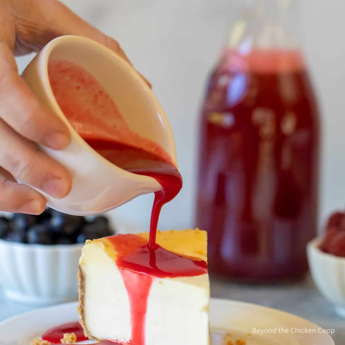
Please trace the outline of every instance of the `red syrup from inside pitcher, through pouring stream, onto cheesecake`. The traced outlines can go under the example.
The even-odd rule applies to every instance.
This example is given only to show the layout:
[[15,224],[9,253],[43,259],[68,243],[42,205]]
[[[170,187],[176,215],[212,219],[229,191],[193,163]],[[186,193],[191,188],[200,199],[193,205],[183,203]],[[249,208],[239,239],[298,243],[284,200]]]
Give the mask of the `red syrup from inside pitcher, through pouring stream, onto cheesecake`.
[[[130,130],[114,101],[100,83],[75,63],[52,60],[48,66],[56,100],[79,135],[100,155],[118,167],[155,178],[149,243],[136,235],[107,237],[115,250],[131,308],[131,344],[145,344],[147,299],[153,277],[194,276],[207,273],[207,264],[183,257],[156,244],[161,207],[182,187],[171,157],[155,142]],[[111,340],[111,339],[110,339]]]

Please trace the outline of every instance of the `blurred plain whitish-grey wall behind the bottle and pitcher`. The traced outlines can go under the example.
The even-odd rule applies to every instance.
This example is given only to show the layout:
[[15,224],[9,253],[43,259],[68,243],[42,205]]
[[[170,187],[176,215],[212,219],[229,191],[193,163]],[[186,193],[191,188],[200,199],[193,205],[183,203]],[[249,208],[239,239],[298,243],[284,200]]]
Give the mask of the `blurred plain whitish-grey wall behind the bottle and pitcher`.
[[[242,0],[64,0],[116,38],[153,85],[175,134],[184,178],[160,229],[193,227],[197,120],[207,73]],[[323,116],[320,220],[344,206],[345,2],[302,0],[302,41]],[[32,57],[18,59],[22,70]],[[116,82],[114,80],[114,82]],[[116,224],[148,230],[152,196],[111,212]],[[119,225],[120,226],[120,225]]]

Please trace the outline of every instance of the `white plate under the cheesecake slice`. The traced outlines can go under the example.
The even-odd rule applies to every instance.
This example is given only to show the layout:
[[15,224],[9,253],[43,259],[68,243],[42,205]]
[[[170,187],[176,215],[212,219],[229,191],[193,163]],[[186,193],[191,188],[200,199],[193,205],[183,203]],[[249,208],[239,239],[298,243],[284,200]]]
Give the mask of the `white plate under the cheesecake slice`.
[[[0,323],[0,344],[29,345],[33,338],[50,327],[77,319],[77,302],[15,316]],[[210,324],[211,345],[226,345],[230,340],[235,343],[240,338],[246,341],[246,345],[334,345],[328,334],[305,319],[226,299],[211,298]],[[254,329],[265,334],[254,333]]]

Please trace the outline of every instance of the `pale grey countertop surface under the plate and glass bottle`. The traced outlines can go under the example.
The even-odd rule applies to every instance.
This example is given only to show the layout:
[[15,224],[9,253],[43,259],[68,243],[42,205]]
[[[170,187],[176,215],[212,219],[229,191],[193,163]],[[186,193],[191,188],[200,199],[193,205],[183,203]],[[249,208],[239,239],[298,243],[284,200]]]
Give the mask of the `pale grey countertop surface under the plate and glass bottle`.
[[[309,276],[299,283],[269,286],[244,285],[211,278],[211,297],[260,304],[298,315],[323,328],[333,328],[335,344],[345,344],[345,319],[334,312]],[[0,293],[0,322],[32,309],[35,306],[12,302]]]

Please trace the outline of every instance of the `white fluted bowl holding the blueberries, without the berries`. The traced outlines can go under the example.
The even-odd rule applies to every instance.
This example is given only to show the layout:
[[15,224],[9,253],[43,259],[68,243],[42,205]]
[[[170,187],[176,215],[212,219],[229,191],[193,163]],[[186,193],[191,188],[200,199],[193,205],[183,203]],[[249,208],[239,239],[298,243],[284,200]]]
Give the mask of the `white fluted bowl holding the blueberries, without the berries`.
[[0,239],[0,284],[5,295],[37,305],[77,300],[82,246],[23,244]]

